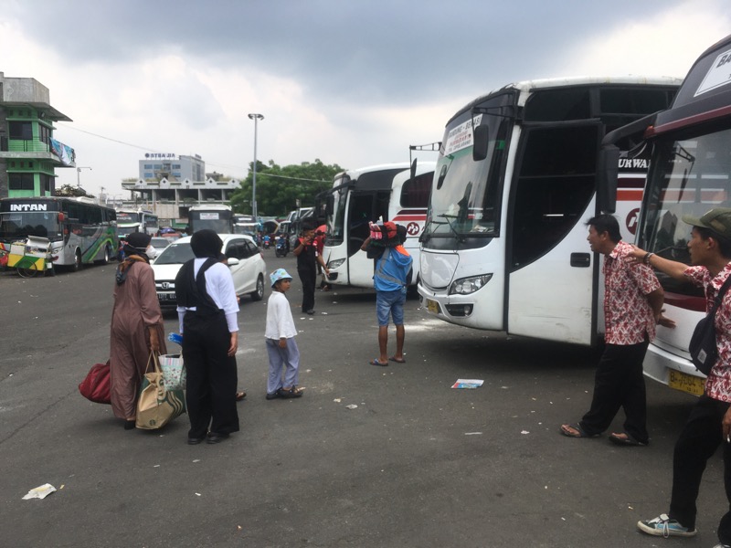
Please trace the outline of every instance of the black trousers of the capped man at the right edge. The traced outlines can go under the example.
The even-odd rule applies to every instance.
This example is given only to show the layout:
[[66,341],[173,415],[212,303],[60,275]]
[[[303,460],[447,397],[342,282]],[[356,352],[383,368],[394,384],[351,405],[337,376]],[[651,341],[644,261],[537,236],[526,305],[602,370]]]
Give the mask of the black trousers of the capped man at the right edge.
[[[731,544],[731,443],[723,439],[721,422],[729,404],[702,395],[695,404],[683,431],[675,442],[673,454],[673,495],[669,516],[684,527],[695,529],[695,500],[701,486],[705,464],[719,445],[724,451],[726,513],[718,525],[718,540]],[[719,501],[720,502],[720,501]],[[719,504],[718,507],[721,505]],[[707,509],[707,513],[717,511]]]

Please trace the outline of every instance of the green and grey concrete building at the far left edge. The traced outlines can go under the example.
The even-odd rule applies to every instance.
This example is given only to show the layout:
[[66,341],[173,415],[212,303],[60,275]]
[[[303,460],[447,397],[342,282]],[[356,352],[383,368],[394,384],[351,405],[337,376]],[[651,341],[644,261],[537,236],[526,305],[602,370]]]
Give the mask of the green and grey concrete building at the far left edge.
[[48,88],[0,72],[0,197],[56,193],[56,168],[76,167],[76,154],[53,138],[54,121],[72,121],[50,105]]

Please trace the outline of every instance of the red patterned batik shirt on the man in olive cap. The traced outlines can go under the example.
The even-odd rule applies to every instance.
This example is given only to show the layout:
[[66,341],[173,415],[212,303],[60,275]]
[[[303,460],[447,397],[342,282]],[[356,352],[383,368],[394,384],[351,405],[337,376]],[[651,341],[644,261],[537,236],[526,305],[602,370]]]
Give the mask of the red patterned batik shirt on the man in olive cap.
[[[731,275],[731,263],[715,277],[705,267],[688,267],[685,277],[705,290],[705,311],[710,312],[718,290]],[[705,394],[722,402],[731,402],[731,290],[726,291],[721,306],[715,311],[715,345],[718,360],[705,381]]]

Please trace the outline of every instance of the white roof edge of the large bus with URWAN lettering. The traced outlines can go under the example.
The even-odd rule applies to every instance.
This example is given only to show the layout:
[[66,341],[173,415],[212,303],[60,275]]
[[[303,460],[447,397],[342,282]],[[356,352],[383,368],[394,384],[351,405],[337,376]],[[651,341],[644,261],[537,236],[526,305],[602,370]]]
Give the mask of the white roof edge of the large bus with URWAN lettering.
[[[518,100],[518,105],[523,106],[527,99],[527,92],[533,90],[547,90],[550,88],[567,88],[577,86],[627,86],[627,85],[646,85],[646,86],[679,86],[683,79],[675,78],[672,76],[658,76],[658,77],[647,77],[647,76],[572,76],[565,78],[546,78],[546,79],[530,79],[519,82],[507,84],[502,88],[493,90],[486,95],[482,95],[475,100],[471,100],[464,107],[462,107],[457,113],[451,117],[450,121],[459,116],[462,112],[470,110],[472,107],[480,104],[484,100],[487,100],[493,95],[500,95],[508,91],[518,91],[522,97]],[[447,123],[449,124],[450,121]]]

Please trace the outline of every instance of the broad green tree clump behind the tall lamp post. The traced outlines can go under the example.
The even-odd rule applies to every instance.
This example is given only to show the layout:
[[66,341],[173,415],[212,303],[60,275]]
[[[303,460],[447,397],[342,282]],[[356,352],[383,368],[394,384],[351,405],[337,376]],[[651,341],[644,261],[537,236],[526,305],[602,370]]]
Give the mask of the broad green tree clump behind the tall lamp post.
[[[273,160],[268,164],[257,162],[257,212],[260,216],[285,216],[297,207],[297,200],[302,207],[314,205],[315,195],[332,188],[335,174],[342,171],[337,163],[325,165],[320,160],[283,167]],[[252,162],[241,188],[231,195],[235,212],[251,213],[253,180]]]

